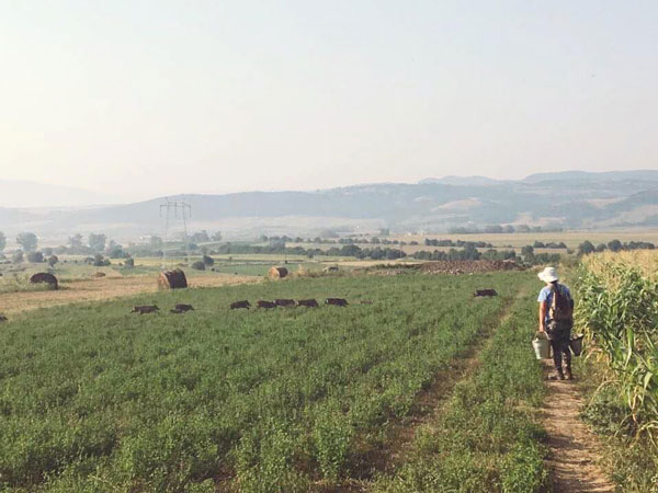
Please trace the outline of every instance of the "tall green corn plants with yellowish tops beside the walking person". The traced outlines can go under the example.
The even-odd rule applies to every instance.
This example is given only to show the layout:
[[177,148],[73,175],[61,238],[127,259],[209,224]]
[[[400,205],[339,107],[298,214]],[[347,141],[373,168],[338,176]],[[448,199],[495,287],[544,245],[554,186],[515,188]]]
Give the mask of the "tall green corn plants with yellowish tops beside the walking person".
[[590,255],[581,264],[577,329],[609,368],[636,433],[658,446],[658,255]]

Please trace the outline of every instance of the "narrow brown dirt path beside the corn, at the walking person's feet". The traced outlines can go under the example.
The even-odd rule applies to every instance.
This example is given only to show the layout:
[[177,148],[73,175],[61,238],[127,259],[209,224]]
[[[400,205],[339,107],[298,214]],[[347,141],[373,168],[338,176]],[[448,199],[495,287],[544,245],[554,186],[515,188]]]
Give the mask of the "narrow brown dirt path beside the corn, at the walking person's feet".
[[[552,372],[552,360],[544,359],[544,374]],[[583,405],[577,381],[546,380],[548,394],[542,415],[551,454],[553,492],[614,492],[614,484],[598,466],[599,445],[594,435],[579,420]]]

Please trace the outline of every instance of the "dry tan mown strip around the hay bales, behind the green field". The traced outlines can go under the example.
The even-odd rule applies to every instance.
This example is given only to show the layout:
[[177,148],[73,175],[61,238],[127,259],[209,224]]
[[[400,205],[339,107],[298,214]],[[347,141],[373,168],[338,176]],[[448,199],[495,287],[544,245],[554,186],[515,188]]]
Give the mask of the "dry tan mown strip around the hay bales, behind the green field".
[[[258,283],[259,280],[261,280],[261,277],[258,276],[236,276],[232,274],[190,276],[189,278],[190,287],[217,287]],[[155,275],[107,276],[99,279],[76,280],[61,283],[61,289],[57,291],[0,294],[0,313],[14,314],[57,305],[104,301],[157,290],[157,277]]]

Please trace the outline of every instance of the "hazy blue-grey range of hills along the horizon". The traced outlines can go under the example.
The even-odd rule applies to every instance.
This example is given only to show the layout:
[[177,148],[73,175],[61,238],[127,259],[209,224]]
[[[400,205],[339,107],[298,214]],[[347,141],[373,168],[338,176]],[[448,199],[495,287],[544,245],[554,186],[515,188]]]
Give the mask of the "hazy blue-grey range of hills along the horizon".
[[[181,198],[181,197],[179,197]],[[472,223],[527,223],[563,228],[656,226],[658,171],[541,173],[519,181],[447,176],[418,184],[367,184],[317,192],[186,195],[191,229],[225,237],[261,232],[314,233],[388,227],[445,231]],[[161,199],[87,209],[0,208],[0,230],[39,233],[102,231],[135,237],[160,233]]]

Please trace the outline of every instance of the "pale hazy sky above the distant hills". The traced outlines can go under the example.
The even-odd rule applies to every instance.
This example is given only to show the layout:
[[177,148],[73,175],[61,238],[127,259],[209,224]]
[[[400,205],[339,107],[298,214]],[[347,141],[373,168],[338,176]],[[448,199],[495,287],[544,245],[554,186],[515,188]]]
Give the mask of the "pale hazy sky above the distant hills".
[[314,190],[656,169],[658,2],[0,0],[0,179]]

